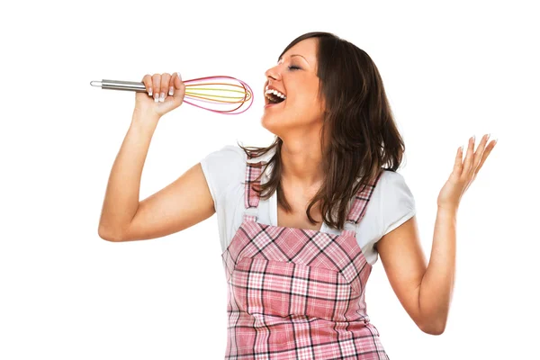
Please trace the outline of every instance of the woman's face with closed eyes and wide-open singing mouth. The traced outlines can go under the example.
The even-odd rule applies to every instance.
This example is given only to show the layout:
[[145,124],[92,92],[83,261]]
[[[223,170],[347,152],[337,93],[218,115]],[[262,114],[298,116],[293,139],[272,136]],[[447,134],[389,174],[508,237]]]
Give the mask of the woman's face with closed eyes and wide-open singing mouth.
[[[261,122],[263,127],[282,137],[285,130],[309,130],[322,124],[324,103],[317,98],[316,38],[302,40],[288,49],[275,67],[266,70],[266,86],[285,95],[281,103],[271,103],[265,95],[266,107]],[[273,97],[272,94],[268,95]],[[275,96],[274,96],[275,98]],[[282,137],[283,138],[283,137]]]

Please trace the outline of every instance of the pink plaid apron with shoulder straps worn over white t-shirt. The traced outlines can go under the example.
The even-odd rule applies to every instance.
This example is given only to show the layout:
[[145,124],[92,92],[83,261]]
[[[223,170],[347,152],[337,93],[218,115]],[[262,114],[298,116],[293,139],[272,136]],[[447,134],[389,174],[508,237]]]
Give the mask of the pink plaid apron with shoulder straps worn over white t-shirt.
[[228,284],[225,359],[389,359],[370,323],[365,284],[372,266],[356,241],[373,184],[356,194],[345,229],[333,235],[257,222],[251,188],[261,162],[247,163],[244,220],[221,254]]

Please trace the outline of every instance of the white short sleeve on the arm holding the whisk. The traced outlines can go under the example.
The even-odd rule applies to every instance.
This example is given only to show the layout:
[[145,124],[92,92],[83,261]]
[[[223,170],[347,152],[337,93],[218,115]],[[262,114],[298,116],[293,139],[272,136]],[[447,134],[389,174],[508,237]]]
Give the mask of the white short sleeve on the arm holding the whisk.
[[221,199],[229,186],[244,181],[246,158],[244,150],[233,145],[227,145],[202,158],[202,173],[206,177],[216,211],[223,205]]

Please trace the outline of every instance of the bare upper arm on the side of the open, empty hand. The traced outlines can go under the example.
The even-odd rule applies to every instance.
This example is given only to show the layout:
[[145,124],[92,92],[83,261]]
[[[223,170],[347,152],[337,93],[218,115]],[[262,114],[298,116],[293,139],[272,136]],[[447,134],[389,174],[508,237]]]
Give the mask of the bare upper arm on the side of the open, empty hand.
[[375,247],[394,293],[421,329],[419,285],[428,265],[420,245],[416,216],[384,235]]

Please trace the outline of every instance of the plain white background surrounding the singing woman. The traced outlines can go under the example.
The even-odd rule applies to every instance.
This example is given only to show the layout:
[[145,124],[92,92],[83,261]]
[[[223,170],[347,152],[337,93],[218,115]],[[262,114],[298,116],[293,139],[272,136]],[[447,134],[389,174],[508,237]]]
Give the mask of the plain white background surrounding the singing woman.
[[[211,151],[268,145],[264,73],[308,31],[374,59],[405,139],[399,170],[429,257],[437,195],[467,139],[498,138],[457,220],[446,331],[420,331],[379,260],[367,310],[392,359],[531,358],[538,351],[539,70],[534,3],[107,1],[1,5],[0,358],[221,359],[226,282],[217,219],[165,238],[97,235],[135,94],[90,81],[228,75],[237,116],[184,104],[159,122],[140,200]],[[478,141],[477,141],[478,142]]]

